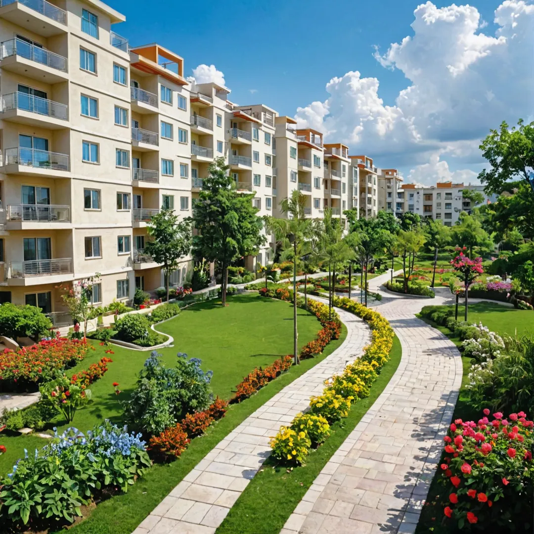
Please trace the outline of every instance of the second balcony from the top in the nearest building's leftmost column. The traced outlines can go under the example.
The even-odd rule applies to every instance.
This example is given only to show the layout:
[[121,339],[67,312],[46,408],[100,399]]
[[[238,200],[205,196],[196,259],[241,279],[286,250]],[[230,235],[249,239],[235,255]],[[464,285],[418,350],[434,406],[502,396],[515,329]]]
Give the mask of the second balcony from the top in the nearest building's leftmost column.
[[0,43],[0,60],[3,69],[20,76],[36,78],[45,83],[68,80],[67,58],[21,39]]

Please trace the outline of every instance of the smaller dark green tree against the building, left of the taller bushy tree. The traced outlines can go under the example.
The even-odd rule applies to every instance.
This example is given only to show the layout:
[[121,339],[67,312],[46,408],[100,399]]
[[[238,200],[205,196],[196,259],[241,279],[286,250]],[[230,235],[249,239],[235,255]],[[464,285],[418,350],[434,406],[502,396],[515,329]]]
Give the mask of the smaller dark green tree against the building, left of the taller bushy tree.
[[162,207],[147,224],[147,232],[152,239],[146,242],[145,252],[162,265],[169,302],[170,273],[178,267],[180,258],[191,252],[191,221],[178,221],[174,209]]

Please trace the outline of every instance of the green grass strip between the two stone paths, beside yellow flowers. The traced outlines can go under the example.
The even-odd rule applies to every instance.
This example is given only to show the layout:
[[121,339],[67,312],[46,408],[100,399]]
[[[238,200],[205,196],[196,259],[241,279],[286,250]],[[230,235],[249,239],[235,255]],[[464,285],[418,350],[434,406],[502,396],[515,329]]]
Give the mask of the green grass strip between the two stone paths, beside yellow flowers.
[[371,395],[351,406],[349,417],[331,427],[331,435],[310,453],[304,466],[288,470],[268,458],[231,508],[217,534],[278,534],[313,481],[356,427],[395,373],[402,350],[395,336],[390,360],[371,387]]

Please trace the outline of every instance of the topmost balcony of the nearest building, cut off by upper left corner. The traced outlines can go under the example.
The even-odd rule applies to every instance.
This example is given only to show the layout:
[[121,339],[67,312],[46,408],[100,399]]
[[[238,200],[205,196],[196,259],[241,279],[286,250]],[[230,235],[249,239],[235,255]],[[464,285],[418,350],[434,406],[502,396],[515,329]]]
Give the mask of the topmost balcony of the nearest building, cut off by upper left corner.
[[46,0],[1,0],[0,18],[43,37],[67,32],[67,12]]

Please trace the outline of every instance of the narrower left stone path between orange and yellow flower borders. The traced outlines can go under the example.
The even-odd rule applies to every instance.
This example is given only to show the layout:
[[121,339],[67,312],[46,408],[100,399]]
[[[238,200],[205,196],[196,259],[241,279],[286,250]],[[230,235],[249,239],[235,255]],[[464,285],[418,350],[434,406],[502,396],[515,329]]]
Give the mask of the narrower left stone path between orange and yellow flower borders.
[[348,330],[341,346],[274,395],[219,442],[134,534],[215,532],[271,453],[270,436],[308,407],[310,397],[323,391],[324,381],[362,354],[364,345],[370,341],[370,331],[364,321],[344,310],[337,312]]

